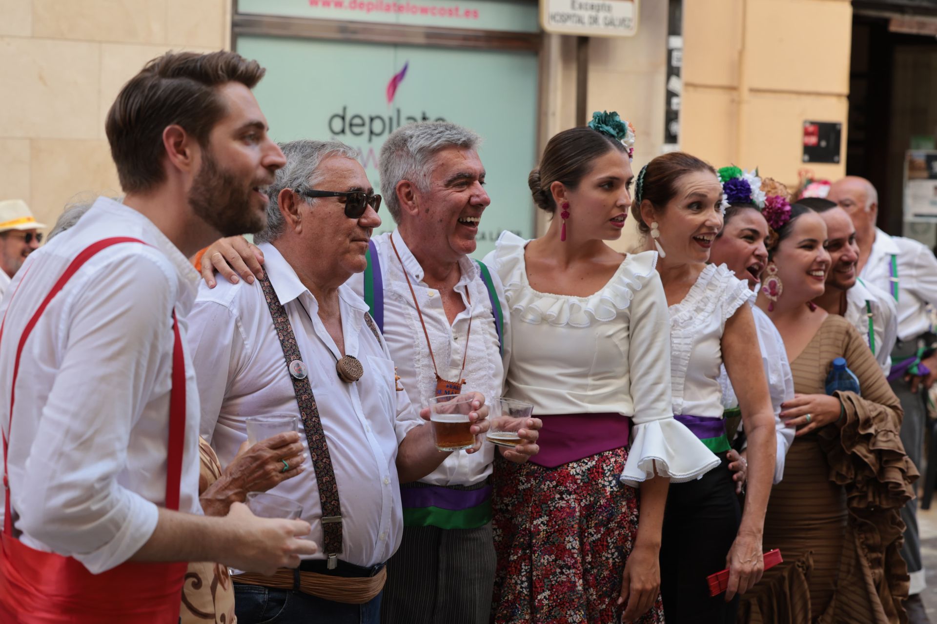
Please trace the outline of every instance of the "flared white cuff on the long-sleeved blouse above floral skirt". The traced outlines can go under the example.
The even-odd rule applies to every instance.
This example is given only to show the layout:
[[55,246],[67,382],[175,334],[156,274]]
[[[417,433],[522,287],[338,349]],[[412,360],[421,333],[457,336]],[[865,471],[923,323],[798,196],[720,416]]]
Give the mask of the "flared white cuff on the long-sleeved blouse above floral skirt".
[[683,483],[700,478],[719,463],[719,457],[690,429],[674,418],[661,418],[632,427],[628,461],[619,478],[632,487],[655,474],[670,477],[671,483]]

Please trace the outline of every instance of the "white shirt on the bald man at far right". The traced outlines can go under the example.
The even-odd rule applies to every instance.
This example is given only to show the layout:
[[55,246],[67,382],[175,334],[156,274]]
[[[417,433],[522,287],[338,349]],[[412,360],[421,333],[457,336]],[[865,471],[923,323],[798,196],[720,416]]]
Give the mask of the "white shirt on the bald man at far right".
[[[895,257],[898,275],[892,277]],[[888,236],[875,229],[875,242],[866,266],[859,274],[894,298],[893,279],[898,283],[898,339],[911,341],[931,330],[928,304],[937,305],[937,258],[926,245],[914,239]]]

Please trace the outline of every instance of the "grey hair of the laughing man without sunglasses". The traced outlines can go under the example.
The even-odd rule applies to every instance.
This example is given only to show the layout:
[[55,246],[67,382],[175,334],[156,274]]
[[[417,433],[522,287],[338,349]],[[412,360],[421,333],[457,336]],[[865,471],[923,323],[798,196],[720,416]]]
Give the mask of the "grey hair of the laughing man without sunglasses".
[[449,122],[417,122],[403,125],[380,148],[380,193],[395,223],[400,223],[397,184],[413,182],[423,193],[429,190],[433,173],[430,162],[439,150],[450,147],[478,150],[482,138],[461,125]]

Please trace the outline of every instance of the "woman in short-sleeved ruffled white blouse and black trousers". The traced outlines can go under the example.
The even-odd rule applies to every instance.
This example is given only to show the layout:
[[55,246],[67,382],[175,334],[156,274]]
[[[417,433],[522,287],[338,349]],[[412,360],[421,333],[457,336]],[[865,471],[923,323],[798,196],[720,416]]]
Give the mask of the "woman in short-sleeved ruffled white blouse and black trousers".
[[[735,622],[737,595],[764,573],[762,535],[775,462],[775,428],[751,307],[754,293],[725,265],[707,265],[722,227],[716,170],[671,152],[641,170],[632,214],[661,255],[670,305],[673,414],[721,458],[698,481],[671,486],[663,524],[662,594],[668,624]],[[749,440],[745,510],[739,518],[721,420],[721,365],[736,388]],[[710,597],[706,576],[729,568],[728,590]]]

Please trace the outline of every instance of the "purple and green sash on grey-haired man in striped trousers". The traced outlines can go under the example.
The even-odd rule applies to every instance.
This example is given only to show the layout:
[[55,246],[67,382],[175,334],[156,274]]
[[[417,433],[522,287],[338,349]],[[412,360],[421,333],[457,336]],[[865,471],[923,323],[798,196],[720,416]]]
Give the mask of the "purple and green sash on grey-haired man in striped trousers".
[[405,527],[478,529],[491,522],[491,486],[401,486]]

